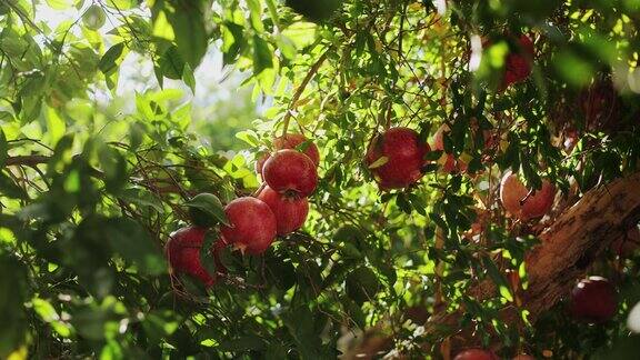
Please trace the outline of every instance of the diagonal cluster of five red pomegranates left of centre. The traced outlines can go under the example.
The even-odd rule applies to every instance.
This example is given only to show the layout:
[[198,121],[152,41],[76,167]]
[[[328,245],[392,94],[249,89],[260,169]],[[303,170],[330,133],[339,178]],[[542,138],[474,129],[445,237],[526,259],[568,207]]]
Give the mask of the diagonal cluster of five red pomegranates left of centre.
[[[224,247],[259,256],[269,249],[277,236],[302,227],[309,212],[307,197],[318,184],[318,148],[301,134],[286,134],[276,139],[273,146],[276,151],[257,164],[257,171],[264,180],[258,196],[238,198],[224,207],[228,224],[220,227],[220,239],[211,249],[218,273],[208,273],[200,261],[200,249],[208,231],[207,224],[202,223],[170,234],[167,257],[174,273],[186,273],[210,287],[218,274],[224,272],[219,259]],[[301,146],[306,149],[297,150]]]

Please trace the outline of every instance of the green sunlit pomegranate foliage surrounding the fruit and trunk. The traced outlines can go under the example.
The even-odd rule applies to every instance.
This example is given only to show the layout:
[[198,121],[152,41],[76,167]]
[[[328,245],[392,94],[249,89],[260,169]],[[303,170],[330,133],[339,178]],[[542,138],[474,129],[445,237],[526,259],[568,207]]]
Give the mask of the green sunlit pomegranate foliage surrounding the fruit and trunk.
[[[640,2],[311,2],[288,1],[303,16],[277,0],[0,2],[0,357],[331,359],[339,339],[377,324],[394,340],[387,351],[438,357],[472,322],[503,357],[637,354],[624,323],[640,299],[638,257],[593,266],[616,279],[612,320],[580,324],[559,304],[530,323],[517,290],[544,226],[507,217],[497,187],[512,169],[531,187],[548,178],[581,193],[638,170]],[[73,17],[51,29],[36,20],[40,3]],[[512,64],[521,34],[534,57]],[[116,96],[131,52],[160,86],[194,89],[209,48],[250,74],[254,99],[272,100],[238,133],[248,153],[287,129],[322,160],[302,231],[259,257],[224,250],[226,274],[204,289],[172,280],[162,247],[197,193],[252,193],[253,157],[214,153],[189,130],[206,119],[167,92],[138,93],[132,111],[97,93]],[[523,80],[507,84],[506,71]],[[467,169],[442,173],[431,152],[416,186],[378,191],[370,140],[397,126],[430,140],[442,123],[444,151]],[[499,291],[477,301],[467,290],[484,279]],[[421,328],[461,304],[458,328]],[[497,319],[506,306],[519,326]]]

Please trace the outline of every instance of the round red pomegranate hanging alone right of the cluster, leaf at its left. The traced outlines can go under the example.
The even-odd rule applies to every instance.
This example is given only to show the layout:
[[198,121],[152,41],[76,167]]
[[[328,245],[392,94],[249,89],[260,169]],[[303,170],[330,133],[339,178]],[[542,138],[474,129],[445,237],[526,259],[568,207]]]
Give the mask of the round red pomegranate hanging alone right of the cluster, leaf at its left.
[[[424,174],[424,156],[429,144],[420,141],[418,132],[408,128],[391,128],[376,136],[367,150],[366,162],[376,177],[380,189],[402,189],[411,186]],[[387,161],[374,168],[381,158]]]

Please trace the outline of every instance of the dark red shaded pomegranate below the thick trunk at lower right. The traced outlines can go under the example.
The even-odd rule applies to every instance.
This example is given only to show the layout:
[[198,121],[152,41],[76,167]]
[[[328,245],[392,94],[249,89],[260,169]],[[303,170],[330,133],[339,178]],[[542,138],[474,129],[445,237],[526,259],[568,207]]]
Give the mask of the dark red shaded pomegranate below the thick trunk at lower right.
[[604,278],[589,277],[576,284],[571,291],[569,313],[577,320],[603,322],[616,314],[617,308],[616,289]]

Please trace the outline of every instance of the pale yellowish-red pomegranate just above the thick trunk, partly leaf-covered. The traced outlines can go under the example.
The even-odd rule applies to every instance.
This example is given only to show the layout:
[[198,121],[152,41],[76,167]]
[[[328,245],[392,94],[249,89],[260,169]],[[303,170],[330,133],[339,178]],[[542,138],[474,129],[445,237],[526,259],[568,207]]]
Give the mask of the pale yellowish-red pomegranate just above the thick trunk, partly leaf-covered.
[[549,212],[553,206],[556,187],[543,180],[540,190],[528,194],[529,189],[514,173],[508,171],[500,183],[500,200],[504,210],[521,220],[539,218]]

